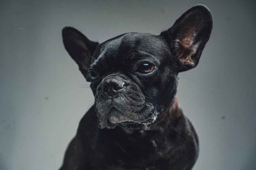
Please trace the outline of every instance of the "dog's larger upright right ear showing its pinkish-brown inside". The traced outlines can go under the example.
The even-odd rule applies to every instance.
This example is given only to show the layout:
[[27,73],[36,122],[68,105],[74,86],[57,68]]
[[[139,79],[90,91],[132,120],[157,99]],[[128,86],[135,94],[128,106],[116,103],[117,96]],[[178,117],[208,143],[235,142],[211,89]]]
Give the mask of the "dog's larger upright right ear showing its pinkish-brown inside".
[[197,66],[212,31],[212,14],[204,5],[188,9],[173,26],[160,35],[178,59],[179,72]]

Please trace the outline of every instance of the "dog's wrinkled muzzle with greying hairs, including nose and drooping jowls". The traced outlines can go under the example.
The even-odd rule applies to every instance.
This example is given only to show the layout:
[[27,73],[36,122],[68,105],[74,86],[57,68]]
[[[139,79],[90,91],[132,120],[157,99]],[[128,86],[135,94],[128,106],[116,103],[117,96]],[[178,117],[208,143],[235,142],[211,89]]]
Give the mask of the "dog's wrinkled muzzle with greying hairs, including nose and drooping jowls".
[[[125,84],[125,87],[119,84]],[[157,109],[145,97],[146,92],[123,74],[108,75],[98,85],[95,112],[99,128],[138,129],[156,120]]]

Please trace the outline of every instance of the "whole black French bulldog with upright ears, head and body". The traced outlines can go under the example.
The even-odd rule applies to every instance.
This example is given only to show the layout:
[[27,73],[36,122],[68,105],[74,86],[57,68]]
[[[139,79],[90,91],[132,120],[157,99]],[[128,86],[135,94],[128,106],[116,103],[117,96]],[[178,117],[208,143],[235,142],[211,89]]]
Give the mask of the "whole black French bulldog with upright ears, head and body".
[[198,137],[175,98],[177,75],[197,66],[211,30],[204,5],[160,35],[132,32],[99,44],[65,27],[64,46],[91,82],[95,105],[60,169],[192,169]]

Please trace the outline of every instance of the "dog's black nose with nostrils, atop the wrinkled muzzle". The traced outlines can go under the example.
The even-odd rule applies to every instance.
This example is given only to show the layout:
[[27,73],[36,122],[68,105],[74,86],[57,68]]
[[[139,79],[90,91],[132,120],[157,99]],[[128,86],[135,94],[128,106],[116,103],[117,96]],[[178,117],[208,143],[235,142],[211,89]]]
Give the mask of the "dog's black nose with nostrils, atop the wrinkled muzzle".
[[101,86],[101,91],[107,94],[117,92],[124,87],[125,83],[120,78],[107,79]]

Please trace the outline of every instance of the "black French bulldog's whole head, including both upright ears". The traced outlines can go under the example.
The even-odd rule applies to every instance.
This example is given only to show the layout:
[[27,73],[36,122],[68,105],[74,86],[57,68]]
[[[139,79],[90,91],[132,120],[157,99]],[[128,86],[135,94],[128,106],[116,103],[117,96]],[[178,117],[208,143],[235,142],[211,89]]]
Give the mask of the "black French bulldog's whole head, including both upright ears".
[[138,129],[171,105],[178,73],[198,64],[211,29],[211,13],[197,5],[160,35],[127,33],[99,44],[65,27],[62,36],[91,82],[99,127]]

